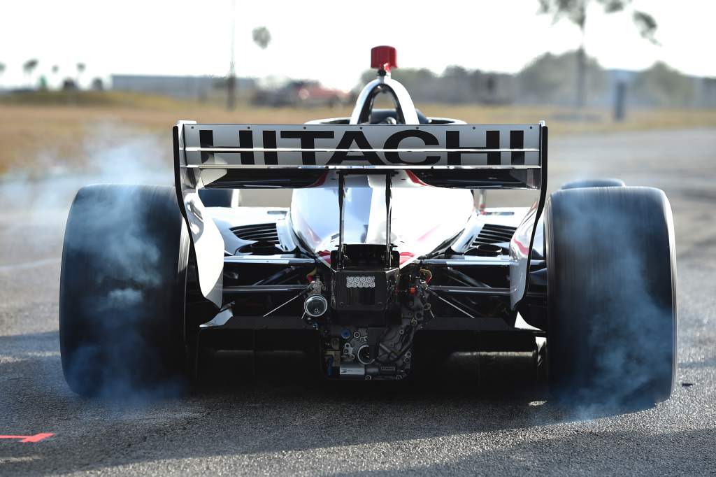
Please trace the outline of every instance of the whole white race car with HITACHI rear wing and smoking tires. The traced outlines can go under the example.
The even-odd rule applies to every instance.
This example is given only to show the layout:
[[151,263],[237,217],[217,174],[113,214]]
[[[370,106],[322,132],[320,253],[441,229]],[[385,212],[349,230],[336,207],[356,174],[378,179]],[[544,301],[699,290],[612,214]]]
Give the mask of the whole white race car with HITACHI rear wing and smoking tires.
[[[173,186],[82,188],[67,219],[64,376],[198,377],[205,350],[303,350],[328,380],[405,380],[452,352],[532,352],[556,395],[674,385],[669,202],[582,180],[547,197],[547,126],[426,117],[392,47],[350,117],[179,121]],[[379,95],[395,104],[374,108]],[[293,189],[241,206],[241,189]],[[531,191],[524,207],[473,191]],[[490,198],[498,193],[490,192]],[[313,359],[315,358],[315,360]]]

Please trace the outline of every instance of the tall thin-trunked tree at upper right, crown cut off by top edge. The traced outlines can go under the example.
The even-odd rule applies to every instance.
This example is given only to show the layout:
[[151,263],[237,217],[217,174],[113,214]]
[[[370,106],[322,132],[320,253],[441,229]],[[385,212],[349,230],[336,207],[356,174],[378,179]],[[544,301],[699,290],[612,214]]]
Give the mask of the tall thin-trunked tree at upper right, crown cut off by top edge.
[[[586,103],[586,53],[584,52],[584,27],[586,26],[587,6],[591,0],[538,0],[540,4],[540,13],[551,14],[554,21],[567,18],[569,21],[579,26],[581,32],[581,42],[577,49],[577,75],[576,75],[576,107],[583,107]],[[627,9],[632,0],[594,0],[600,4],[607,14]],[[657,31],[657,21],[654,17],[645,13],[632,9],[632,19],[639,30],[639,34],[643,38],[657,44],[654,39],[654,32]]]

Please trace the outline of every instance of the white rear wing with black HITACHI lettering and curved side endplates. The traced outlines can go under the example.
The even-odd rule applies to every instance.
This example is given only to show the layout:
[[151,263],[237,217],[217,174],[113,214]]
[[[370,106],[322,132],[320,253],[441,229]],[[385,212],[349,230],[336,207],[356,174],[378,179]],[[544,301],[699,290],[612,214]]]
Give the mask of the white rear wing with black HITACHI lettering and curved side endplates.
[[[547,127],[531,125],[218,125],[180,121],[173,130],[175,185],[205,297],[221,306],[223,240],[203,221],[200,188],[337,187],[346,174],[382,174],[390,186],[540,190],[523,225],[531,235],[546,188]],[[522,226],[521,226],[522,228]],[[520,228],[516,238],[520,234]],[[525,238],[515,254],[529,253]],[[517,277],[516,277],[517,278]],[[513,281],[513,283],[516,283]],[[525,286],[513,294],[524,294]]]

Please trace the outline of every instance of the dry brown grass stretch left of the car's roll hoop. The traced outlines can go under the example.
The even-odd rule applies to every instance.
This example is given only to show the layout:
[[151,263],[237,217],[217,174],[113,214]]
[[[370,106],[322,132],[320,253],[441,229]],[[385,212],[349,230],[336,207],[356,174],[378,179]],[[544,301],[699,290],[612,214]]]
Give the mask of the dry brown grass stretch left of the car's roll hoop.
[[[117,145],[128,134],[154,134],[171,147],[171,128],[177,120],[198,122],[301,123],[316,117],[348,115],[347,109],[274,109],[242,105],[228,112],[214,105],[180,102],[162,97],[117,95],[102,101],[77,104],[52,98],[37,101],[0,102],[0,175],[21,170],[34,175],[51,166],[48,162],[81,168],[87,164],[88,138],[95,140],[97,127],[113,127],[117,135],[104,135],[105,145]],[[171,151],[168,150],[168,155]]]

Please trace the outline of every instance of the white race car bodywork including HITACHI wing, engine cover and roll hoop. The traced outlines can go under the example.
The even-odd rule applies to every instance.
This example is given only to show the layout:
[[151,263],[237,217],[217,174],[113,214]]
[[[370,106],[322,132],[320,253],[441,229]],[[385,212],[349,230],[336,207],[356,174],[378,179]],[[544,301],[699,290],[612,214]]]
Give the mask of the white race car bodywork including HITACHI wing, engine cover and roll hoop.
[[[374,97],[384,92],[395,100],[396,117],[373,121]],[[466,125],[423,117],[405,87],[382,71],[364,87],[348,118],[306,125],[180,121],[174,140],[176,188],[192,236],[200,289],[221,307],[225,256],[259,259],[301,250],[330,265],[332,251],[344,253],[341,241],[388,249],[390,242],[400,254],[400,266],[438,249],[447,251],[455,241],[460,248],[455,251],[464,254],[472,244],[466,242],[471,231],[480,226],[468,189],[541,188],[546,127],[543,122]],[[294,194],[281,218],[258,223],[276,223],[275,233],[271,241],[263,241],[259,233],[252,249],[246,233],[231,229],[236,227],[231,213],[205,208],[197,193],[205,187],[294,188]],[[542,188],[535,208],[515,214],[520,225],[511,226],[514,235],[505,237],[512,307],[526,290],[529,249],[543,203]],[[206,221],[205,213],[214,220]]]

